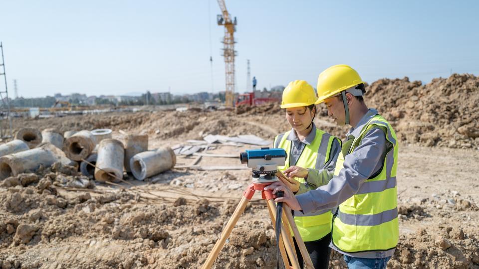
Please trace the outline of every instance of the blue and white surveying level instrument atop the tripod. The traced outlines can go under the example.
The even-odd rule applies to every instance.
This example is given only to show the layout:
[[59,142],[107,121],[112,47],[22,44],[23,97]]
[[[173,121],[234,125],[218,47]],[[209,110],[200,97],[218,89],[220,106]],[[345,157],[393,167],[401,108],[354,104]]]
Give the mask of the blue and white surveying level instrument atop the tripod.
[[252,169],[253,183],[272,183],[278,181],[274,174],[278,166],[284,166],[287,156],[283,148],[261,147],[241,152],[240,161]]

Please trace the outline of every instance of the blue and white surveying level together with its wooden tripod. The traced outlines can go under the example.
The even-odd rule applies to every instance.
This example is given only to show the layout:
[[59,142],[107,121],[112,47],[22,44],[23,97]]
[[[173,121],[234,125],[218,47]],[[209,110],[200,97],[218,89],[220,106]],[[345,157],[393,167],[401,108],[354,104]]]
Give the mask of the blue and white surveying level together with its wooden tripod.
[[[252,184],[244,190],[235,212],[233,212],[233,215],[224,227],[218,241],[203,264],[202,269],[211,269],[213,267],[213,263],[218,258],[221,249],[225,246],[233,228],[240,219],[241,214],[246,209],[247,203],[251,200],[256,191],[260,191],[261,198],[266,201],[269,217],[271,223],[274,225],[276,245],[278,247],[278,253],[276,255],[278,259],[277,267],[279,268],[279,259],[281,259],[286,269],[300,269],[297,258],[298,254],[294,247],[294,236],[300,255],[303,257],[305,268],[314,269],[311,258],[306,250],[306,246],[304,245],[298,228],[294,223],[291,209],[287,204],[283,204],[282,202],[278,202],[277,205],[274,203],[274,198],[281,197],[283,193],[278,191],[276,192],[276,195],[274,195],[271,190],[264,190],[264,187],[271,185],[271,183],[275,181],[283,181],[283,177],[285,176],[279,171],[278,166],[284,166],[287,156],[288,155],[284,149],[269,147],[249,149],[240,153],[241,163],[246,164],[252,170]],[[280,178],[278,178],[278,176]]]

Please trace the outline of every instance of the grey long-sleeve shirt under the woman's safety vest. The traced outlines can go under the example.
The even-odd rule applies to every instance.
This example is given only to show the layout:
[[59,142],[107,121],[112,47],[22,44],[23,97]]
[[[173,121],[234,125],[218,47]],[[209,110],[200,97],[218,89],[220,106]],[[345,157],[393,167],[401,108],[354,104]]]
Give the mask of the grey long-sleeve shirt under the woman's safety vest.
[[[303,139],[299,140],[294,132],[291,129],[291,132],[286,137],[287,140],[291,141],[291,150],[288,152],[289,154],[289,166],[296,165],[296,162],[301,156],[303,149],[306,145],[309,145],[313,142],[314,138],[316,137],[316,126],[313,124],[313,128],[311,132]],[[274,147],[279,147],[279,142],[282,138],[282,135],[279,135],[274,143]],[[336,161],[338,159],[339,152],[341,151],[341,144],[337,139],[334,139],[331,145],[331,149],[329,151],[329,158],[328,161],[324,164],[321,168],[307,168],[308,169],[308,176],[305,178],[305,183],[299,185],[299,190],[296,194],[304,193],[308,190],[316,189],[319,186],[325,185],[329,182],[329,180],[333,177],[334,174],[334,167],[336,167]],[[326,152],[324,152],[326,153]]]

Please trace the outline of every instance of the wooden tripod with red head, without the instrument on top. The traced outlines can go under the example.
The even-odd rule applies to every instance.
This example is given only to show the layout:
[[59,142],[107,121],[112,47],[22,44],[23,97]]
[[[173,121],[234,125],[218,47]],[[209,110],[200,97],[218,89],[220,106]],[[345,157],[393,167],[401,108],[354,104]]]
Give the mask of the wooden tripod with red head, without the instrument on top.
[[[266,204],[268,206],[268,211],[269,211],[269,217],[271,218],[271,221],[274,227],[274,223],[276,222],[276,218],[278,217],[276,216],[276,204],[274,203],[274,200],[273,200],[275,197],[271,190],[267,190],[267,191],[264,190],[264,187],[270,185],[271,183],[272,182],[268,182],[268,183],[253,182],[246,188],[246,190],[243,193],[243,196],[241,197],[240,203],[238,204],[237,208],[235,209],[235,212],[233,212],[233,215],[231,216],[230,220],[226,224],[225,229],[221,233],[221,236],[216,242],[215,246],[213,247],[213,250],[211,251],[210,255],[208,255],[208,258],[206,259],[206,262],[203,265],[202,269],[210,269],[213,266],[213,263],[218,258],[218,255],[220,254],[221,249],[225,245],[226,240],[230,236],[231,231],[233,230],[236,223],[240,219],[241,214],[244,212],[244,209],[246,208],[247,203],[249,202],[249,200],[251,200],[255,191],[261,191],[261,198],[266,200]],[[294,248],[293,238],[291,236],[290,231],[293,232],[293,235],[296,239],[296,243],[298,244],[299,250],[301,252],[301,256],[303,257],[305,267],[307,269],[314,269],[313,263],[311,262],[311,258],[309,257],[306,247],[304,246],[304,242],[301,239],[301,235],[299,235],[299,231],[296,227],[296,224],[294,223],[294,218],[293,218],[293,215],[291,214],[291,209],[286,204],[284,204],[283,211],[282,211],[281,229],[280,229],[281,235],[279,238],[279,245],[278,245],[279,252],[281,253],[281,258],[286,268],[299,269],[297,254]],[[289,261],[291,262],[291,266],[289,266],[288,258],[289,258]]]

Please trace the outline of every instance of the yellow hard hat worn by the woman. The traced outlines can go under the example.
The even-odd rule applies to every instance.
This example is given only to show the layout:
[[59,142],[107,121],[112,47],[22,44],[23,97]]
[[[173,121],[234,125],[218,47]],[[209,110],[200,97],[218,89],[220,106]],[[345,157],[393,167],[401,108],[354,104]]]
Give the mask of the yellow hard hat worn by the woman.
[[313,105],[318,97],[313,86],[304,80],[291,81],[283,91],[281,108],[297,108]]

